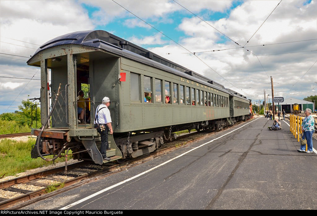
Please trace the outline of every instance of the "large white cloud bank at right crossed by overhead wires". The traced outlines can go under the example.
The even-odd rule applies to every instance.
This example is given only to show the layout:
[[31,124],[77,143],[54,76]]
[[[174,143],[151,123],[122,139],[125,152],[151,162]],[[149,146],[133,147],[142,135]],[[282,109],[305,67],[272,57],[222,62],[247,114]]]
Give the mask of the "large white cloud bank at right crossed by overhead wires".
[[[279,1],[246,1],[232,10],[228,18],[216,21],[205,21],[240,45],[244,45],[278,2]],[[190,7],[188,7],[188,9],[193,10]],[[252,37],[247,46],[315,39],[317,33],[316,14],[316,1],[312,1],[307,5],[303,5],[302,1],[283,1]],[[238,47],[227,38],[223,43],[219,43],[219,41],[223,41],[222,38],[225,38],[225,36],[221,35],[218,31],[197,17],[184,18],[182,23],[178,26],[178,29],[188,35],[188,37],[183,38],[180,43],[191,52]],[[316,50],[317,43],[316,40],[314,40],[252,47],[248,49],[258,55],[277,54]],[[222,83],[225,87],[232,88],[244,95],[248,93],[252,96],[249,98],[257,99],[262,97],[263,88],[270,91],[270,85],[265,84],[270,81],[268,76],[273,77],[276,83],[276,92],[285,94],[285,96],[289,95],[290,92],[288,92],[288,90],[292,84],[300,79],[316,60],[316,52],[259,56],[258,58],[268,74],[267,76],[256,56],[243,48],[196,54],[210,67],[237,86],[239,88],[238,90],[233,86],[230,87],[227,81],[210,71],[204,63],[197,61],[193,55],[181,54],[186,52],[186,50],[180,49],[176,45],[153,48],[152,51],[160,53],[163,57],[175,61],[180,65],[184,65],[195,72],[203,73],[210,79]],[[317,81],[316,65],[314,65],[298,83],[312,84],[296,84],[296,88],[293,89],[297,92],[293,92],[292,94],[301,97],[301,94],[308,92],[316,86],[314,81],[308,80]],[[279,84],[277,84],[278,82]],[[265,85],[249,88],[260,84]],[[244,92],[242,92],[241,89],[243,89]],[[316,87],[313,91],[316,92]]]

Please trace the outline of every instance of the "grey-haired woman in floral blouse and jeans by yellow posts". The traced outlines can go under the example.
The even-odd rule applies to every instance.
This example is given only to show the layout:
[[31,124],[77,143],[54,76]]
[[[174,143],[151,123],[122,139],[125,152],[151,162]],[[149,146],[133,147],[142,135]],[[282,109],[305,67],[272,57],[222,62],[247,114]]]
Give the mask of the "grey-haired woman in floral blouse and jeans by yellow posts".
[[313,133],[314,133],[314,125],[315,125],[315,120],[314,118],[310,115],[312,113],[311,109],[306,109],[305,110],[305,119],[301,124],[301,131],[304,132],[304,136],[302,139],[307,140],[307,151],[306,150],[306,145],[301,145],[301,152],[306,152],[306,153],[312,153],[313,152]]

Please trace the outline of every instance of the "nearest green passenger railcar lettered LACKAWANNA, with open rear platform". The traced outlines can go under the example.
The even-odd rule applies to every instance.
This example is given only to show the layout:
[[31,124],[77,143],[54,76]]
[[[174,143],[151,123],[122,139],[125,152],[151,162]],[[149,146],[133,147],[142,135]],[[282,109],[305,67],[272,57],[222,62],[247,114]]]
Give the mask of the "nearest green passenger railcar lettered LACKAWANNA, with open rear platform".
[[[174,131],[219,130],[247,115],[230,109],[231,103],[244,103],[244,96],[101,30],[52,39],[28,64],[41,68],[42,130],[32,130],[38,136],[33,158],[60,155],[68,148],[74,158],[102,164],[94,112],[105,96],[111,101],[114,132],[107,151],[111,160],[154,151],[175,138]],[[86,93],[84,120],[90,123],[78,122],[80,90]]]

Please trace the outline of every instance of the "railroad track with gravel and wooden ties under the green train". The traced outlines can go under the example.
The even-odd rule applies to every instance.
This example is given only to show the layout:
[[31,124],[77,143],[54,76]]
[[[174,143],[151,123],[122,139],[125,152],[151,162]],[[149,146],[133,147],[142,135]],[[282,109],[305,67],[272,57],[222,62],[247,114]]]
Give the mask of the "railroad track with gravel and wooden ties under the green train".
[[[243,122],[236,123],[232,126],[226,127],[223,130],[230,129],[231,127],[242,124]],[[222,131],[223,131],[222,130]],[[218,131],[217,131],[218,132]],[[81,182],[89,178],[100,176],[104,174],[112,175],[120,172],[123,168],[131,168],[137,166],[139,163],[143,163],[161,154],[165,154],[173,149],[184,147],[190,143],[197,142],[201,139],[214,135],[215,131],[203,130],[200,132],[192,132],[179,136],[176,140],[168,143],[164,143],[159,149],[150,154],[138,157],[136,159],[128,160],[122,164],[116,164],[114,162],[108,162],[103,165],[92,164],[91,162],[78,162],[67,166],[67,172],[65,166],[60,168],[54,168],[47,171],[42,171],[14,179],[0,182],[0,209],[16,209],[15,204],[18,204],[18,208],[27,206],[33,202],[36,202],[44,197],[50,196],[48,193],[50,190],[60,189],[55,191],[51,195],[62,193],[68,189],[71,189],[74,184]],[[81,185],[81,183],[78,183]],[[79,186],[77,185],[77,186]],[[73,187],[72,187],[73,186]],[[62,189],[61,189],[62,188]],[[45,195],[47,194],[47,195]],[[42,198],[43,197],[43,198]],[[29,201],[27,203],[21,203],[23,201]]]

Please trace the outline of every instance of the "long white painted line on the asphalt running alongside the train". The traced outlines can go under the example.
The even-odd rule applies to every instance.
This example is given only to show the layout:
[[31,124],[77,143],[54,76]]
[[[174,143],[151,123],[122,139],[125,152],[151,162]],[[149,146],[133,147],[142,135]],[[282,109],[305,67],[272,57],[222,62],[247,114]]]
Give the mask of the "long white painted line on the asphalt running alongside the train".
[[[256,121],[257,119],[259,119],[259,118],[261,118],[261,117],[262,117],[262,116],[256,118],[255,120],[253,120],[253,121],[251,121],[251,122],[254,122],[254,121]],[[250,124],[251,122],[249,122],[249,123],[247,123],[247,124]],[[240,128],[244,127],[244,126],[247,125],[247,124],[243,124],[241,127],[237,128],[237,129],[235,129],[235,130],[240,129]],[[96,192],[96,193],[94,193],[94,194],[91,194],[90,196],[87,196],[87,197],[85,197],[85,198],[83,198],[83,199],[81,199],[81,200],[78,200],[78,201],[76,201],[76,202],[74,202],[74,203],[72,203],[72,204],[69,204],[68,206],[65,206],[65,207],[63,207],[63,208],[61,208],[61,209],[59,209],[59,210],[65,210],[65,209],[68,209],[68,208],[70,208],[70,207],[73,207],[73,206],[75,206],[75,205],[77,205],[77,204],[79,204],[79,203],[81,203],[81,202],[84,202],[84,201],[86,201],[86,200],[88,200],[88,199],[90,199],[90,198],[93,198],[94,196],[97,196],[98,194],[101,194],[101,193],[103,193],[103,192],[106,192],[106,191],[108,191],[108,190],[110,190],[110,189],[112,189],[112,188],[114,188],[114,187],[117,187],[117,186],[122,185],[122,184],[124,184],[124,183],[126,183],[126,182],[128,182],[128,181],[131,181],[131,180],[133,180],[133,179],[135,179],[135,178],[137,178],[137,177],[139,177],[139,176],[141,176],[141,175],[144,175],[144,174],[146,174],[146,173],[148,173],[148,172],[151,172],[152,170],[154,170],[154,169],[156,169],[156,168],[159,168],[159,167],[165,165],[166,163],[169,163],[169,162],[171,162],[171,161],[173,161],[173,160],[175,160],[175,159],[177,159],[177,158],[179,158],[179,157],[181,157],[181,156],[184,156],[184,155],[186,155],[187,153],[189,153],[189,152],[191,152],[191,151],[193,151],[193,150],[195,150],[195,149],[198,149],[198,148],[200,148],[200,147],[202,147],[202,146],[204,146],[204,145],[206,145],[206,144],[208,144],[208,143],[211,143],[211,142],[213,142],[213,141],[215,141],[215,140],[217,140],[217,139],[219,139],[219,138],[221,138],[221,137],[226,136],[226,135],[232,133],[232,132],[235,131],[235,130],[232,130],[232,131],[230,131],[229,133],[226,133],[226,134],[224,134],[224,135],[222,135],[222,136],[220,136],[220,137],[217,137],[217,138],[215,138],[215,139],[213,139],[213,140],[210,140],[210,141],[207,142],[207,143],[201,144],[200,146],[197,146],[196,148],[193,148],[193,149],[191,149],[191,150],[189,150],[189,151],[186,151],[185,153],[183,153],[183,154],[181,154],[181,155],[179,155],[179,156],[176,156],[176,157],[174,157],[174,158],[172,158],[172,159],[170,159],[170,160],[168,160],[168,161],[165,161],[164,163],[161,163],[161,164],[157,165],[156,167],[153,167],[153,168],[151,168],[151,169],[148,169],[148,170],[144,171],[143,173],[140,173],[140,174],[138,174],[138,175],[135,175],[135,176],[133,176],[133,177],[131,177],[131,178],[128,178],[128,179],[126,179],[126,180],[124,180],[124,181],[121,181],[121,182],[119,182],[119,183],[117,183],[117,184],[115,184],[115,185],[112,185],[112,186],[107,187],[107,188],[105,188],[105,189],[103,189],[103,190],[101,190],[101,191],[98,191],[98,192]]]

